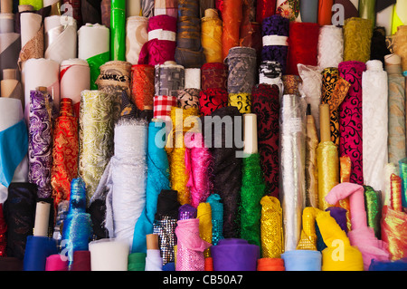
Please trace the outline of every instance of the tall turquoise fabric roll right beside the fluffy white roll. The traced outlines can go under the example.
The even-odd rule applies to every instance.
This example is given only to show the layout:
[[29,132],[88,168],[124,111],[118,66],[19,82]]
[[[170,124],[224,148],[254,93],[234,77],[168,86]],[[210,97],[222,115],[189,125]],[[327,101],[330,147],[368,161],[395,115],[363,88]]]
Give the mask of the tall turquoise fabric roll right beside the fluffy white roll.
[[160,147],[159,141],[156,141],[156,138],[165,131],[166,123],[164,121],[150,121],[147,145],[146,207],[141,213],[141,216],[138,217],[134,228],[133,246],[131,248],[133,253],[147,253],[146,236],[153,234],[158,195],[162,189],[170,189],[169,164],[166,149]]

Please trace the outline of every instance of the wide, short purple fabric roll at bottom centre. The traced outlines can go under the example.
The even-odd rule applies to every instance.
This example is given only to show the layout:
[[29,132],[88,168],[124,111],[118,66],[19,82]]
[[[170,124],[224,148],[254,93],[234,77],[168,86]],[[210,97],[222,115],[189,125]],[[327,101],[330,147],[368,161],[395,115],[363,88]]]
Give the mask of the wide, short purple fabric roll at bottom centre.
[[213,271],[256,271],[260,247],[244,239],[226,238],[211,246]]

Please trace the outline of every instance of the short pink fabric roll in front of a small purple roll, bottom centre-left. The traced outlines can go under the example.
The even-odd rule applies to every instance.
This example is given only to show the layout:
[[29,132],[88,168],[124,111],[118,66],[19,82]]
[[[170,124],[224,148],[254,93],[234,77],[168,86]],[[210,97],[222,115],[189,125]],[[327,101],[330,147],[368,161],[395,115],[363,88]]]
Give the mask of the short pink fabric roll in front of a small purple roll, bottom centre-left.
[[204,271],[204,250],[211,244],[199,236],[199,219],[179,220],[175,235],[177,239],[175,271]]

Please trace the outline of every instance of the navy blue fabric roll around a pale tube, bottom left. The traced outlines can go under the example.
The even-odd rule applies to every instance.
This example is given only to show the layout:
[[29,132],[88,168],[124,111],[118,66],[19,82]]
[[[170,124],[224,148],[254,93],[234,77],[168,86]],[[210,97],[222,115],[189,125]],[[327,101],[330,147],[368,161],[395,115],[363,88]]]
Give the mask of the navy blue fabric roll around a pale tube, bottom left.
[[46,236],[27,236],[24,271],[45,271],[47,257],[58,254],[56,240]]

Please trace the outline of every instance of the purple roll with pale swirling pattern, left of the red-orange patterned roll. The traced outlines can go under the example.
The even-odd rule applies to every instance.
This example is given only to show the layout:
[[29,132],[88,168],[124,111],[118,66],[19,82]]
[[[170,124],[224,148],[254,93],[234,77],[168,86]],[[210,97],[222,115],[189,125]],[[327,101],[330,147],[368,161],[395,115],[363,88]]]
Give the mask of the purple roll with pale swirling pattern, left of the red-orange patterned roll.
[[28,181],[37,185],[38,197],[51,197],[52,97],[47,92],[30,92],[28,123]]

